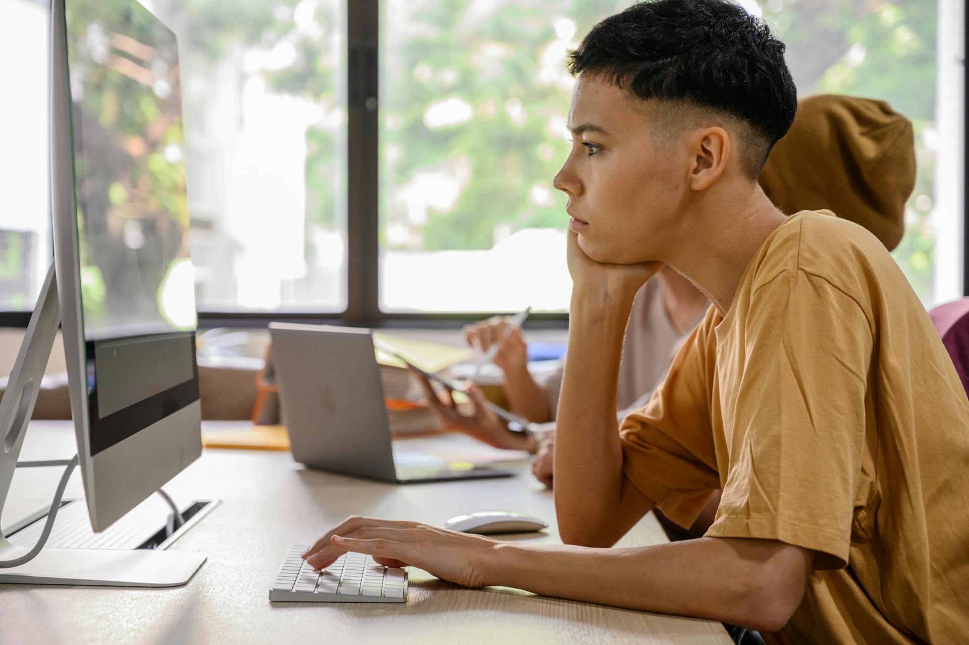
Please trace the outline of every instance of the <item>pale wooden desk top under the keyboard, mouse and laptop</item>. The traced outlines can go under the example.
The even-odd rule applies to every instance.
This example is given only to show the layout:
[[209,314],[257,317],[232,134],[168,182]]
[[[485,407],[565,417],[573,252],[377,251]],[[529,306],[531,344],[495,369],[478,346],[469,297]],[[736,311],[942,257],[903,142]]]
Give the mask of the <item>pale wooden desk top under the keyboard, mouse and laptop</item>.
[[[69,422],[35,421],[20,459],[68,458],[74,452]],[[0,585],[0,642],[731,642],[719,623],[503,587],[464,589],[414,568],[406,605],[268,601],[269,584],[290,545],[312,542],[353,513],[441,524],[469,510],[512,509],[551,525],[546,535],[532,539],[560,543],[551,493],[526,465],[516,470],[518,476],[503,479],[391,485],[307,470],[288,452],[205,449],[166,485],[179,504],[222,501],[171,547],[208,557],[188,584],[171,589]],[[49,504],[59,475],[59,468],[17,471],[0,523],[9,526]],[[81,496],[76,472],[67,497]],[[620,545],[666,539],[649,514]]]

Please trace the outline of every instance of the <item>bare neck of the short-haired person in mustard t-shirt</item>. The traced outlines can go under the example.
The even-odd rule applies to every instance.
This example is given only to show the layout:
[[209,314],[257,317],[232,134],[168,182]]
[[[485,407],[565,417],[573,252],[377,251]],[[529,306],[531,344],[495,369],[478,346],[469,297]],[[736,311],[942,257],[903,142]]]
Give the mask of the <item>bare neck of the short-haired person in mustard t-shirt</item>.
[[691,208],[666,262],[726,316],[747,264],[786,220],[757,184],[710,193]]

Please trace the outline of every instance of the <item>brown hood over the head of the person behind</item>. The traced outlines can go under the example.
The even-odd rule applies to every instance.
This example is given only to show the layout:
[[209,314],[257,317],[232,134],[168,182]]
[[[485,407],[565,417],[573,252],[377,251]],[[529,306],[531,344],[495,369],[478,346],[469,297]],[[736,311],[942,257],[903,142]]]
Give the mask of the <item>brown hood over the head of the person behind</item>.
[[891,251],[915,188],[912,123],[884,101],[834,94],[801,99],[759,179],[781,211],[827,208],[860,224]]

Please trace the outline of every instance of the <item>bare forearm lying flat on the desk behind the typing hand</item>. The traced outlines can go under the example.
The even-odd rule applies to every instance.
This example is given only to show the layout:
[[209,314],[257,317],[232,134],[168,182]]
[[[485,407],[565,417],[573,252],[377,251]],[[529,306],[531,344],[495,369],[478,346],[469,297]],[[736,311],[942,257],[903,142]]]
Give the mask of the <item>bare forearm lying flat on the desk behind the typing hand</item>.
[[703,537],[622,549],[507,542],[488,560],[488,585],[772,631],[803,596],[811,552],[764,539]]

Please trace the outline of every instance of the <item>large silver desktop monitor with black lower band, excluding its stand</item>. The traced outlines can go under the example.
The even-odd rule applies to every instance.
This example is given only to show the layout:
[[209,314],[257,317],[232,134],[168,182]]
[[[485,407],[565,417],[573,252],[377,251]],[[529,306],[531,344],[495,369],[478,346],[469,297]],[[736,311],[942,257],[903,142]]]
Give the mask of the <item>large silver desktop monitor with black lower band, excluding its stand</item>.
[[134,0],[51,11],[54,261],[102,531],[202,453],[178,53]]

